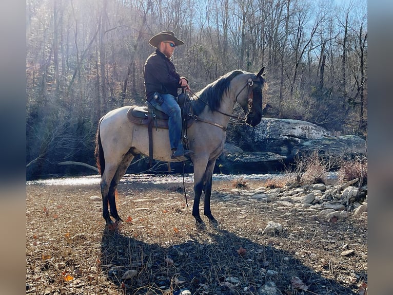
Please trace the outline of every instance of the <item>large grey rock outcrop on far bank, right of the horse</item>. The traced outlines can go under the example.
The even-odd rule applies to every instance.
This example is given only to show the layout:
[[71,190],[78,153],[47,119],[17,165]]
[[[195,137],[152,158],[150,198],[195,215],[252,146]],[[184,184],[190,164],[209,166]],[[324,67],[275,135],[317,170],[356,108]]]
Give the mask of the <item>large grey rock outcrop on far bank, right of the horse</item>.
[[290,119],[263,118],[252,130],[252,145],[257,151],[245,152],[225,144],[217,159],[220,172],[275,173],[297,155],[318,151],[321,155],[350,160],[365,154],[366,142],[355,135],[334,136],[323,127]]

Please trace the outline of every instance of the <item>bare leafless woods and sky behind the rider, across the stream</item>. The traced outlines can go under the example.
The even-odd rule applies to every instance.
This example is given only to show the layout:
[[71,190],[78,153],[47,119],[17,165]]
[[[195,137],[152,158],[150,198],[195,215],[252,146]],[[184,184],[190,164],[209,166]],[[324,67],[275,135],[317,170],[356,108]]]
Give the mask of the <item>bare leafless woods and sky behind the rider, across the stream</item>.
[[98,121],[144,104],[148,40],[163,30],[185,42],[173,60],[194,92],[263,65],[265,117],[367,138],[366,0],[28,0],[27,178],[95,165]]

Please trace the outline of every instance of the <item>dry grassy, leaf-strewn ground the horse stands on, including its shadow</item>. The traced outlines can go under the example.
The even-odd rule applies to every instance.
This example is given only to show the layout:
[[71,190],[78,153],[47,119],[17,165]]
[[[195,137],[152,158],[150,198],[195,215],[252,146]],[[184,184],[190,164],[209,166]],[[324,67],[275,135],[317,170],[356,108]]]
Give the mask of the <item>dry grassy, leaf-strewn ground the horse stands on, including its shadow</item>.
[[[367,217],[328,222],[313,212],[288,214],[271,203],[228,200],[232,189],[213,182],[220,225],[205,220],[201,230],[191,215],[192,184],[187,208],[182,183],[121,183],[116,202],[124,223],[106,229],[102,202],[90,198],[100,197],[99,186],[29,185],[26,292],[366,294]],[[264,234],[269,221],[283,232]]]

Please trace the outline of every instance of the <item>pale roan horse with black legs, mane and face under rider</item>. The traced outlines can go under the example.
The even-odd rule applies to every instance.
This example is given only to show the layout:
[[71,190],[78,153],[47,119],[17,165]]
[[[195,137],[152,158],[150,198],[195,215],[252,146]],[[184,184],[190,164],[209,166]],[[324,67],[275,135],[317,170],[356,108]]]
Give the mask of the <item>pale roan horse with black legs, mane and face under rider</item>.
[[[204,222],[199,213],[202,191],[205,194],[204,215],[217,223],[210,210],[212,173],[215,160],[224,148],[226,127],[236,102],[245,114],[245,122],[256,126],[262,118],[262,87],[264,67],[258,73],[234,70],[210,83],[191,98],[193,123],[187,128],[190,156],[194,169],[194,203],[192,215],[197,225]],[[96,136],[95,155],[102,175],[101,193],[103,217],[106,225],[122,222],[117,213],[115,190],[128,165],[138,154],[149,155],[148,128],[135,124],[127,117],[132,106],[116,108],[101,118]],[[166,128],[153,127],[153,158],[173,161],[170,158],[169,135]],[[110,207],[110,216],[108,211]]]

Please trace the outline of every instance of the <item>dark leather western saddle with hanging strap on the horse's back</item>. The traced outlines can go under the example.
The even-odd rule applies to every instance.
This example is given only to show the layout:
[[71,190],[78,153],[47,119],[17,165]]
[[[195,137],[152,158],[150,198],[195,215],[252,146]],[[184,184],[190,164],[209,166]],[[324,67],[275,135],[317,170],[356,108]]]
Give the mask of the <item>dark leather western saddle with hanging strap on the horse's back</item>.
[[[153,125],[155,130],[158,128],[169,129],[168,115],[156,109],[148,101],[145,102],[145,106],[131,106],[127,111],[127,118],[130,122],[137,125],[146,125],[149,136],[149,165],[152,167],[153,164]],[[182,110],[182,140],[186,146],[187,142],[187,128],[192,124],[192,105],[191,100],[187,94],[180,94],[178,96],[178,103]]]

